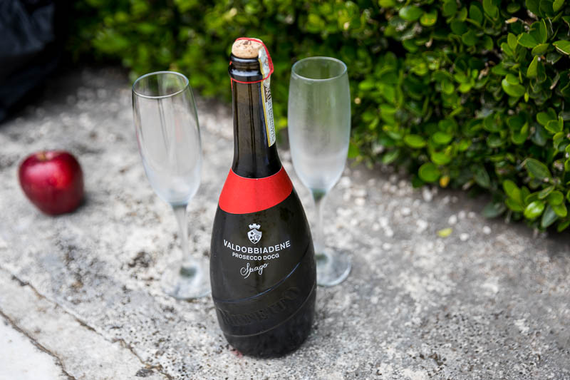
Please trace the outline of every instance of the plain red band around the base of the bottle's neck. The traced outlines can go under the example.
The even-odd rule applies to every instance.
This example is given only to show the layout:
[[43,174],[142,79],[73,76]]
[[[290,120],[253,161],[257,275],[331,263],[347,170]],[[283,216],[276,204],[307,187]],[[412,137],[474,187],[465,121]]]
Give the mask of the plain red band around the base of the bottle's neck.
[[230,214],[258,212],[279,205],[291,191],[293,183],[282,166],[266,178],[244,178],[230,169],[219,195],[219,208]]

